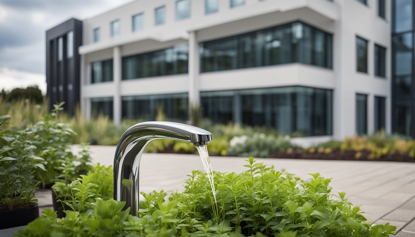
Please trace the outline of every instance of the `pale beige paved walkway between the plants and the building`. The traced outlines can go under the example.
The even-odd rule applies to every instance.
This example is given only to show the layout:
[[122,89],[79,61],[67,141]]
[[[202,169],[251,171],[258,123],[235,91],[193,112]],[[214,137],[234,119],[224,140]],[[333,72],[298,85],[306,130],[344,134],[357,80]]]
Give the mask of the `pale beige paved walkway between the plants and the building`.
[[[78,151],[78,147],[73,147]],[[115,146],[91,146],[94,163],[112,165]],[[212,169],[221,172],[246,170],[243,157],[210,157]],[[376,161],[321,161],[256,159],[286,169],[303,179],[307,173],[332,178],[333,193],[346,192],[370,222],[396,225],[400,237],[415,237],[415,164]],[[140,164],[140,191],[183,190],[183,180],[194,169],[203,170],[198,155],[143,154]],[[39,193],[39,205],[49,208],[49,193]]]

